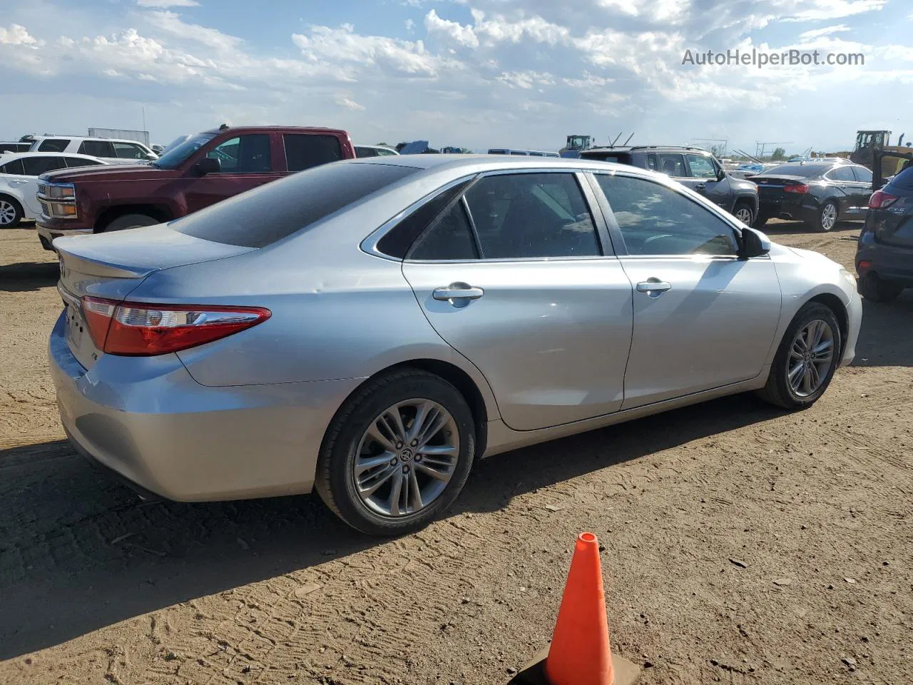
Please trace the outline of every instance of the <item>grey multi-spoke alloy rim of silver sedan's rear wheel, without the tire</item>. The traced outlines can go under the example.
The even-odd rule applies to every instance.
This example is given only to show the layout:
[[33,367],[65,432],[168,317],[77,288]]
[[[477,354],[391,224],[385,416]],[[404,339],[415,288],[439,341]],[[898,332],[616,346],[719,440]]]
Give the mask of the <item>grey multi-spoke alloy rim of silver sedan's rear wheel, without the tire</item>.
[[389,406],[362,434],[352,479],[369,510],[399,518],[436,501],[459,458],[456,420],[444,406],[409,399]]

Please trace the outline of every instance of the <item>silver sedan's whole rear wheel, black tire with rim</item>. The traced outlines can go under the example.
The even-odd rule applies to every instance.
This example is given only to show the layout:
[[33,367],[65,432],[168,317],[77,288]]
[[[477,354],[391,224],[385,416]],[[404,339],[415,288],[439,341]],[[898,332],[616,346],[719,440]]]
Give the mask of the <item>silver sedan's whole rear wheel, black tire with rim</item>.
[[[429,428],[441,422],[425,444],[436,448],[433,454],[410,433],[423,406],[433,407],[425,415],[433,417]],[[341,406],[320,448],[314,486],[357,531],[403,535],[421,530],[456,500],[475,452],[476,424],[463,395],[440,376],[405,368],[368,381]],[[416,504],[416,490],[417,502],[429,503]]]

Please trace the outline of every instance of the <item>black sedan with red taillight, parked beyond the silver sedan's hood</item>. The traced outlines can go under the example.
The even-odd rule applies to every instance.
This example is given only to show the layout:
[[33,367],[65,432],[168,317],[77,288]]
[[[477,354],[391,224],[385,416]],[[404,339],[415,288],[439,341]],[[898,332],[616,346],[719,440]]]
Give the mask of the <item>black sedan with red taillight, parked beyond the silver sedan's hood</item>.
[[771,218],[797,219],[829,231],[838,221],[865,220],[872,194],[872,172],[847,162],[785,163],[751,180],[761,196],[758,226]]

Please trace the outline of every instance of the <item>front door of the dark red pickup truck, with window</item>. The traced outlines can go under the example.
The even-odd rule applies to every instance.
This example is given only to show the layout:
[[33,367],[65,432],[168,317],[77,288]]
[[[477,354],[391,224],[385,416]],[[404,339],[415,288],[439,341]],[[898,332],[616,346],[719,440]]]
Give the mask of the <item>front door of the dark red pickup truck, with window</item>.
[[282,174],[274,171],[272,147],[269,133],[239,135],[215,145],[205,157],[218,160],[220,171],[199,176],[191,169],[184,179],[187,211],[195,212],[280,178]]

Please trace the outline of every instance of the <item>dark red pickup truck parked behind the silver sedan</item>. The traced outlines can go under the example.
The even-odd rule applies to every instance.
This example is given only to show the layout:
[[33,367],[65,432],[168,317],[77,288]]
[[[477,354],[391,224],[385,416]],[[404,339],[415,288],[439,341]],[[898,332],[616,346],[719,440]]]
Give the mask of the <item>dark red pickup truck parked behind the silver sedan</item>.
[[312,166],[352,159],[344,131],[278,126],[221,126],[188,136],[159,159],[131,166],[86,167],[38,180],[38,238],[152,226]]

